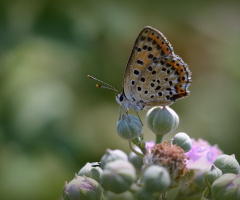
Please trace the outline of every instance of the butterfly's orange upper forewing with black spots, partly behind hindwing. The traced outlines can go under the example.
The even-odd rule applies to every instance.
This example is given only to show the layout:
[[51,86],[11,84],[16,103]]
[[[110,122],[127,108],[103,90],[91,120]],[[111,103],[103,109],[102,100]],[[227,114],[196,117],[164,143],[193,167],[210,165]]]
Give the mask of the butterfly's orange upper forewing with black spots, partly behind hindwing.
[[[123,80],[123,93],[127,99],[134,99],[133,88],[150,63],[160,57],[174,54],[171,44],[158,30],[147,26],[137,37],[128,60]],[[138,96],[140,98],[140,96]]]

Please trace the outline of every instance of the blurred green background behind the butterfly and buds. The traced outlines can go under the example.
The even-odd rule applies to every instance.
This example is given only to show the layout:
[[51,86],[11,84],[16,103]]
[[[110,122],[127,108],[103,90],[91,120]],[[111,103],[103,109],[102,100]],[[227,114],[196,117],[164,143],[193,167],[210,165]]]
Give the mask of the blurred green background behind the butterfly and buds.
[[240,160],[239,20],[239,1],[1,0],[1,199],[61,199],[64,181],[106,148],[129,152],[115,130],[114,92],[87,75],[121,90],[147,25],[193,73],[191,95],[171,106],[180,117],[176,132]]

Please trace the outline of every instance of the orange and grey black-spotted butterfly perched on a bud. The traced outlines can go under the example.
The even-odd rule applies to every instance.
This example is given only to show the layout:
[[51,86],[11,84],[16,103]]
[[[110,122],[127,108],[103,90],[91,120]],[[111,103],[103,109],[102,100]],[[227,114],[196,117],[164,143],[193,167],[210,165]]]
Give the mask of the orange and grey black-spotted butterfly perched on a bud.
[[[174,53],[160,31],[146,26],[135,41],[123,78],[123,90],[116,95],[116,101],[126,112],[130,108],[138,111],[145,106],[168,106],[189,95],[190,83],[188,65]],[[97,87],[117,91],[106,85],[108,87],[97,84]]]

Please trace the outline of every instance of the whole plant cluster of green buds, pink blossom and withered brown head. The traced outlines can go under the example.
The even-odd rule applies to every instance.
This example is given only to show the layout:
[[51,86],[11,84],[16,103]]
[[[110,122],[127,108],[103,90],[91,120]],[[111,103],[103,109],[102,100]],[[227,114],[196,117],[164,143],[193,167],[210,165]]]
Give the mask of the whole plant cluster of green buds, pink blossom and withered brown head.
[[[196,187],[199,177],[205,190],[196,195],[198,199],[240,199],[239,163],[234,155],[222,154],[216,145],[195,141],[183,132],[163,141],[179,124],[178,115],[169,107],[150,109],[146,124],[155,142],[144,140],[138,117],[122,115],[116,129],[129,142],[131,153],[107,149],[99,163],[87,163],[65,183],[64,200],[189,199],[182,192],[186,188],[179,188],[191,184],[191,189],[201,191]],[[180,184],[181,180],[186,184]]]

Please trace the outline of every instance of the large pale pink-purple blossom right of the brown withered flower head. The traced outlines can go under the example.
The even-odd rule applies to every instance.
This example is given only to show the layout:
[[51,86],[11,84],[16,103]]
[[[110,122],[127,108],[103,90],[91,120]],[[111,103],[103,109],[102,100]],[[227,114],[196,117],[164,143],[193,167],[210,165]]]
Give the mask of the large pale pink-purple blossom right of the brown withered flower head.
[[187,167],[189,169],[205,170],[210,168],[215,158],[222,153],[217,145],[211,146],[203,139],[196,141],[192,138],[192,149],[186,153],[186,156],[189,157]]

